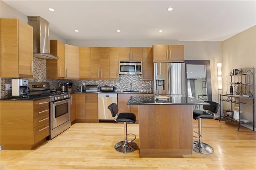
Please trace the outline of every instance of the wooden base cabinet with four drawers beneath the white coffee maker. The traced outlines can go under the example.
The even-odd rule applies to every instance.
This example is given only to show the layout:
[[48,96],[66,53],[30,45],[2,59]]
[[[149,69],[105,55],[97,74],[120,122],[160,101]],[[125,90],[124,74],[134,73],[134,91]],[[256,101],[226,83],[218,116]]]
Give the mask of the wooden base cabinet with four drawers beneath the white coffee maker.
[[50,134],[49,99],[2,100],[0,108],[2,149],[33,149],[46,141]]

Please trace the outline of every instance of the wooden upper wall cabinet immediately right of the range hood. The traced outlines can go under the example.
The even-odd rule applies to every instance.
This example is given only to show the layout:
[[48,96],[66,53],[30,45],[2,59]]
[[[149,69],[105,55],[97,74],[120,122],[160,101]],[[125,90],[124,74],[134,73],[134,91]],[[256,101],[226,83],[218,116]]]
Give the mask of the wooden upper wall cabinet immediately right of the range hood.
[[50,40],[50,53],[59,59],[46,59],[46,78],[65,78],[65,44],[58,40]]

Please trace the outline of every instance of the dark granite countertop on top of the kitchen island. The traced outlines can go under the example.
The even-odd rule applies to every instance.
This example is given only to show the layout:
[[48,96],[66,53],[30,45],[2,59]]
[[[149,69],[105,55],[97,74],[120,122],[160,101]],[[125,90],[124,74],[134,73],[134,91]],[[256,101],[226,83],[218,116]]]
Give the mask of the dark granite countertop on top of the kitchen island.
[[127,105],[209,105],[204,101],[192,99],[190,97],[168,96],[170,99],[156,99],[155,97],[133,96]]

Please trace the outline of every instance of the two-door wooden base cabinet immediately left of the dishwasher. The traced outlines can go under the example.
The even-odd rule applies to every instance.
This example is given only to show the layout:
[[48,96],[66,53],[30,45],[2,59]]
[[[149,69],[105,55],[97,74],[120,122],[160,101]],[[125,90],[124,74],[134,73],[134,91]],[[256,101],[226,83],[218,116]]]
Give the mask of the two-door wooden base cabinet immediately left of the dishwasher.
[[76,122],[99,122],[98,94],[76,93]]

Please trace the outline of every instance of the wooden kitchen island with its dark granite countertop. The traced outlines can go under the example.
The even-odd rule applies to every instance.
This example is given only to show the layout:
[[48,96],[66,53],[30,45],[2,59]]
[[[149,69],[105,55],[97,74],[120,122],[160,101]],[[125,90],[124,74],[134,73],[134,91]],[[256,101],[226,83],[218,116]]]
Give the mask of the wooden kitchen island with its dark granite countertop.
[[190,97],[131,97],[139,105],[140,156],[192,154],[193,105],[208,105]]

